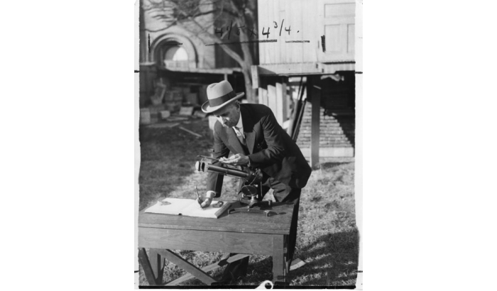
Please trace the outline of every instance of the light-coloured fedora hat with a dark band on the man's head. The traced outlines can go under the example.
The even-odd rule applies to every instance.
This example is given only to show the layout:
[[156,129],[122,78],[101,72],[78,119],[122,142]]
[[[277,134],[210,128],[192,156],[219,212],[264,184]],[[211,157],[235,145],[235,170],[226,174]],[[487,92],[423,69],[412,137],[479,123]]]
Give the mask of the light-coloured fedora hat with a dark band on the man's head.
[[235,93],[233,91],[229,81],[210,84],[207,87],[207,99],[209,101],[202,105],[202,111],[204,113],[213,113],[243,96],[245,96],[245,93]]

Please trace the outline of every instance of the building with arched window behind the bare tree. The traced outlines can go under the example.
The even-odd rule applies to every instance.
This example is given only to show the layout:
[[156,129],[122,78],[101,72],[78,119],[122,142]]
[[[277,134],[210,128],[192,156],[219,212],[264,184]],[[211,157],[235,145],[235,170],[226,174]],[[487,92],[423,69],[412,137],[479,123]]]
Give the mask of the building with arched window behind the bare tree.
[[[226,24],[226,18],[219,18],[212,1],[197,3],[198,16],[192,21],[182,19],[178,25],[174,22],[181,17],[178,6],[170,1],[141,0],[141,107],[151,104],[158,84],[168,92],[178,92],[183,101],[197,104],[207,101],[209,84],[222,80],[230,81],[236,91],[245,91],[239,64],[221,47],[211,45],[205,34],[214,34],[216,28]],[[236,38],[235,33],[231,35],[231,40]],[[241,54],[239,45],[231,48]],[[258,47],[253,45],[252,49],[255,56]]]

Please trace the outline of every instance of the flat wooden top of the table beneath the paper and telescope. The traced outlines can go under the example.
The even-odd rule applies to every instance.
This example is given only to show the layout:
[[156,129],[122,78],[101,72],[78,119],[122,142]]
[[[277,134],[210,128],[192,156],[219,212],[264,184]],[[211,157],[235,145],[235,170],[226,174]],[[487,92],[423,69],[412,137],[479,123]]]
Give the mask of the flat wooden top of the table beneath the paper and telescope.
[[[241,207],[240,202],[232,202],[230,208]],[[258,207],[255,207],[256,209]],[[159,229],[207,230],[212,232],[246,232],[258,234],[290,234],[293,203],[273,203],[269,217],[253,213],[232,213],[226,210],[218,219],[186,217],[182,215],[160,215],[145,213],[138,215],[138,227]]]

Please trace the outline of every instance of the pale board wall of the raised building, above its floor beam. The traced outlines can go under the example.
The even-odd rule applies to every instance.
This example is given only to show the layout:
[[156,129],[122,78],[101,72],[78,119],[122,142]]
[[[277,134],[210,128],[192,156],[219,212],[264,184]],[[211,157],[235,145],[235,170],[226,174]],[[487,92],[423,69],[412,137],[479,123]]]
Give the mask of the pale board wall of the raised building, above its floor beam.
[[278,40],[259,44],[260,64],[353,61],[355,9],[354,0],[258,0],[259,38]]

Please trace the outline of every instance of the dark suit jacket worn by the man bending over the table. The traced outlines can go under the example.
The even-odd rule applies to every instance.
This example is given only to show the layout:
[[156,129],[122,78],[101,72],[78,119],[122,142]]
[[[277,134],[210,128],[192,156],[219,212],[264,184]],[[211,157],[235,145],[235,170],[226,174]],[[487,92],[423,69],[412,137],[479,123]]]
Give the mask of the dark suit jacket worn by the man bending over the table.
[[[241,104],[241,118],[251,166],[292,188],[304,188],[312,169],[297,144],[278,124],[273,111],[266,105]],[[214,125],[214,158],[227,158],[230,151],[246,154],[233,128],[225,128],[218,121]],[[207,190],[216,192],[216,198],[221,193],[223,178],[217,173],[209,173],[207,178]]]

